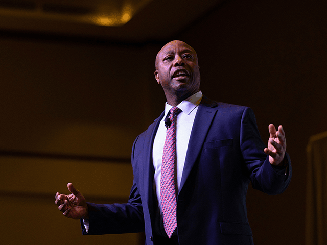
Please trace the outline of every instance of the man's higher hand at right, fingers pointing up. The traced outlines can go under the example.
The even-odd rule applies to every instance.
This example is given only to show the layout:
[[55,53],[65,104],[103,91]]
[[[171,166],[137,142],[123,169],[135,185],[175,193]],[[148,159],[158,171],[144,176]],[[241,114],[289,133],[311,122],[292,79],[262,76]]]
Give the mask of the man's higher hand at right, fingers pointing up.
[[270,137],[268,140],[268,148],[265,148],[264,151],[269,155],[270,164],[278,166],[283,164],[286,152],[285,132],[282,125],[279,125],[278,131],[276,131],[273,124],[270,124],[268,129]]

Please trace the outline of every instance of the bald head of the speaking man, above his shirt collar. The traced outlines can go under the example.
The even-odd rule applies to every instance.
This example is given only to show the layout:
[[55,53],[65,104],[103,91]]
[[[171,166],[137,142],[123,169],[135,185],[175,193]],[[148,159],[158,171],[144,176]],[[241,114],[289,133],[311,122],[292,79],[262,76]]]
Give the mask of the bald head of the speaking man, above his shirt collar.
[[200,90],[198,57],[185,42],[175,40],[162,47],[155,67],[155,79],[164,88],[168,104],[176,106]]

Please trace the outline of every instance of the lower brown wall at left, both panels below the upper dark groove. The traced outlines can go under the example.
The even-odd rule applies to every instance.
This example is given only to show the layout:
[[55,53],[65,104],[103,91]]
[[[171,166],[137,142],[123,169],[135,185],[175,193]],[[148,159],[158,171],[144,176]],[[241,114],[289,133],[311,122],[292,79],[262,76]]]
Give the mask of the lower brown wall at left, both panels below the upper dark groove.
[[139,244],[142,234],[82,236],[79,220],[64,217],[54,203],[57,191],[68,193],[68,182],[87,201],[126,202],[130,164],[4,156],[0,162],[3,244]]

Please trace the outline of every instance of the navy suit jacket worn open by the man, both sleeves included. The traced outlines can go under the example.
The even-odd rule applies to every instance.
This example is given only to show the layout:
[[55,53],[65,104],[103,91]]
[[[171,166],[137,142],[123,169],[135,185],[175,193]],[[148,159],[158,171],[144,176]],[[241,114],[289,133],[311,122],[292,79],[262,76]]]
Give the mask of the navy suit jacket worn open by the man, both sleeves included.
[[[134,181],[128,203],[88,203],[88,235],[145,231],[146,244],[156,244],[152,146],[163,116],[164,113],[133,144]],[[264,148],[249,107],[203,97],[177,197],[179,244],[253,244],[245,203],[249,183],[254,189],[279,194],[287,188],[292,173],[288,154],[287,171],[278,171],[269,163]]]

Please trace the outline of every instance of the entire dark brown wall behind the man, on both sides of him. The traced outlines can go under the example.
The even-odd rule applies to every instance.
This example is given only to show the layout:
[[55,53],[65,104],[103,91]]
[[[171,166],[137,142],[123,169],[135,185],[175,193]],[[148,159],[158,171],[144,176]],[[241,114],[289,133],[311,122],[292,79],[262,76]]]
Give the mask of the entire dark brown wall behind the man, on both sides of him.
[[[278,196],[249,188],[256,244],[304,244],[305,149],[310,135],[327,130],[325,7],[323,1],[225,1],[169,39],[197,51],[206,96],[254,110],[265,142],[269,123],[285,127],[293,179]],[[139,242],[138,235],[82,238],[78,222],[62,217],[53,197],[73,182],[95,202],[127,200],[133,140],[164,108],[153,71],[156,52],[169,40],[100,45],[0,36],[0,231],[6,244],[67,237],[85,244]],[[80,160],[85,155],[88,160]]]

